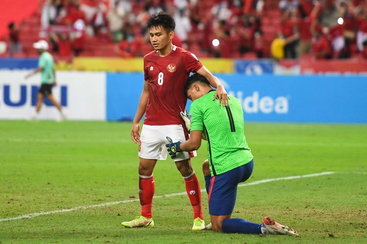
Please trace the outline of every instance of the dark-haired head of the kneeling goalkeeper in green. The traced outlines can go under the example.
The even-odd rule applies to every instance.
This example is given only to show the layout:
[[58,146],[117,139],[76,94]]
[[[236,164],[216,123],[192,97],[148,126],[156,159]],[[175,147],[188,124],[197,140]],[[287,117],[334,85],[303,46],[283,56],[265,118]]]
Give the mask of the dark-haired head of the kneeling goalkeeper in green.
[[191,101],[201,98],[210,90],[211,86],[209,81],[197,73],[187,78],[184,85],[184,94]]

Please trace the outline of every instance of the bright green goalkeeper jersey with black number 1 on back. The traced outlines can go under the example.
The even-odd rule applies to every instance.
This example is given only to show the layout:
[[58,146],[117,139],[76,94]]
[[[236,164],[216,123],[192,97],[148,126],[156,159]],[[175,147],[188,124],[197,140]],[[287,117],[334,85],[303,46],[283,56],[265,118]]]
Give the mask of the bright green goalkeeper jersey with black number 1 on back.
[[214,92],[208,92],[190,106],[191,131],[201,130],[206,137],[211,176],[223,174],[253,159],[244,134],[241,103],[228,96],[229,105],[219,105],[218,100],[212,100]]

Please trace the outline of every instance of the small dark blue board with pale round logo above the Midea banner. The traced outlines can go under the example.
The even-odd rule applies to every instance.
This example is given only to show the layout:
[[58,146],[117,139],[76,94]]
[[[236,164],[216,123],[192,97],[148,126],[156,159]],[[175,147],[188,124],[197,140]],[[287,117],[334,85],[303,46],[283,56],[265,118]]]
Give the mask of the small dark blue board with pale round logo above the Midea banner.
[[246,75],[273,74],[273,63],[268,60],[235,60],[236,73]]

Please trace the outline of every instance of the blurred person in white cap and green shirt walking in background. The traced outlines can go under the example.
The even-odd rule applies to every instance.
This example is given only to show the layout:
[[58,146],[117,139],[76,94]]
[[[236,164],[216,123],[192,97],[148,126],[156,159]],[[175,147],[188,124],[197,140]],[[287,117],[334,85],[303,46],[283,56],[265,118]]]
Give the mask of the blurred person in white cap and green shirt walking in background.
[[41,72],[41,87],[38,90],[37,105],[36,105],[36,115],[32,119],[37,119],[38,114],[41,110],[42,104],[44,102],[44,97],[46,97],[60,112],[60,121],[65,120],[65,115],[62,112],[62,108],[59,102],[52,96],[52,87],[56,85],[55,80],[55,61],[52,55],[47,52],[48,43],[45,40],[40,40],[33,43],[33,47],[37,49],[40,59],[38,61],[38,68],[32,73],[25,76],[28,79],[32,75]]

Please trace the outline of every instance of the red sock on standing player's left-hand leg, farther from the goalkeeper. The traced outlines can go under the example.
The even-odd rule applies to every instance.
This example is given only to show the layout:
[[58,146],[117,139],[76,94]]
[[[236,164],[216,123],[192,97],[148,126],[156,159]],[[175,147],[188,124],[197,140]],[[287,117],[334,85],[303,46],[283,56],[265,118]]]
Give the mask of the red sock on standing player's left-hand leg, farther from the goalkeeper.
[[139,199],[141,205],[141,216],[152,218],[152,203],[155,190],[153,175],[139,175]]

